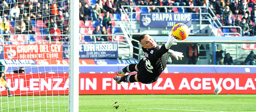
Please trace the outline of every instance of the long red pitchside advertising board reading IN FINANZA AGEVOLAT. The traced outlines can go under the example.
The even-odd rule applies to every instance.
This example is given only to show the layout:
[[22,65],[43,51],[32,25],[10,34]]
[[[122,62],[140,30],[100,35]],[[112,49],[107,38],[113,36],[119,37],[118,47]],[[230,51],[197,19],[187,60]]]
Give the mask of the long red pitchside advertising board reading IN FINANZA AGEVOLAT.
[[[40,75],[40,76],[38,76]],[[81,73],[79,94],[256,94],[256,75],[245,73],[162,73],[151,84],[140,82],[117,84],[108,73]],[[68,74],[6,74],[11,93],[22,95],[68,94]],[[33,78],[32,78],[33,77]],[[39,86],[40,84],[40,86]],[[1,86],[1,94],[6,89]]]

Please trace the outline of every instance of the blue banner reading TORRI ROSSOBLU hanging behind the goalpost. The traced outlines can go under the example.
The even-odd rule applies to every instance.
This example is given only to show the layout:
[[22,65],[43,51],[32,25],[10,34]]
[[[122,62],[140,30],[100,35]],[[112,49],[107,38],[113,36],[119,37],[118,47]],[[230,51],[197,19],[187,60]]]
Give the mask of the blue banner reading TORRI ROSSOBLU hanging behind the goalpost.
[[[63,45],[63,58],[68,58],[68,45]],[[79,44],[79,59],[113,59],[118,58],[116,42]]]

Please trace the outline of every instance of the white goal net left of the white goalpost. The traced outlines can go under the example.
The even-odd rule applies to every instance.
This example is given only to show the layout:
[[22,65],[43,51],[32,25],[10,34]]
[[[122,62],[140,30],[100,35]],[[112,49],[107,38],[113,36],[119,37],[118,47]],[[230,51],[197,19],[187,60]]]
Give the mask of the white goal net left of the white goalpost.
[[0,1],[0,111],[69,111],[69,0]]

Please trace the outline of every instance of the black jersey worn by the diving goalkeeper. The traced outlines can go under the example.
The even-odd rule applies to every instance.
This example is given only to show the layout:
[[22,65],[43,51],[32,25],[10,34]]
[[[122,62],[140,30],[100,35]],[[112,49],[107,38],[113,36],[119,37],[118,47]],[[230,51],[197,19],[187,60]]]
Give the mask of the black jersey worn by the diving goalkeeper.
[[[138,63],[139,79],[150,78],[158,79],[159,75],[166,68],[168,61],[168,50],[165,45],[157,45],[154,49],[146,49],[142,47],[143,58]],[[142,80],[139,80],[142,82]]]

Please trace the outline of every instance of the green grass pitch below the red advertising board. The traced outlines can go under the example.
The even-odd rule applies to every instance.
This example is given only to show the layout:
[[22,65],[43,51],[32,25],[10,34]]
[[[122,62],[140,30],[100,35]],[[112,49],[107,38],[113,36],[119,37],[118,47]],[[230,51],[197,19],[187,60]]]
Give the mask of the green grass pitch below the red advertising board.
[[[0,112],[68,112],[68,96],[2,96],[0,101]],[[79,112],[256,112],[256,95],[80,95]]]

